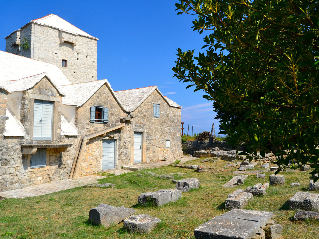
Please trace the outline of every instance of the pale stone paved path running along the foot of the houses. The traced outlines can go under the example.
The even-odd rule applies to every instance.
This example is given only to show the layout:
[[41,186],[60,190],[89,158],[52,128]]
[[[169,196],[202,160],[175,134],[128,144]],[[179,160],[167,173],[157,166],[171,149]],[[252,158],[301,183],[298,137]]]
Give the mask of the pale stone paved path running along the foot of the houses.
[[[197,158],[183,156],[183,158],[181,158],[181,163],[186,162],[188,160],[193,160],[193,159],[197,159]],[[123,173],[130,173],[130,172],[141,170],[141,169],[167,166],[169,164],[174,163],[174,161],[175,160],[168,160],[168,161],[158,161],[155,163],[130,165],[127,167],[124,166],[123,167],[124,169],[115,169],[112,171],[108,171],[108,173],[113,173],[114,175],[117,176]],[[66,189],[81,187],[85,184],[93,184],[97,182],[96,181],[97,179],[106,178],[106,177],[107,176],[88,175],[88,176],[78,177],[78,179],[75,179],[75,180],[63,179],[60,181],[33,185],[33,186],[29,186],[22,189],[2,191],[0,192],[0,200],[5,198],[24,198],[24,197],[40,196],[44,194],[66,190]]]

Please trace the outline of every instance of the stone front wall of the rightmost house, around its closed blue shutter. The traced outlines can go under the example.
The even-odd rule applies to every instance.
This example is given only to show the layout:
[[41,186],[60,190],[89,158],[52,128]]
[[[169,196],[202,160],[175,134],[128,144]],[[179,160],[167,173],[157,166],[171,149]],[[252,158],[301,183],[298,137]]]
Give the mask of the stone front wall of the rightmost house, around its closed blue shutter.
[[[159,104],[160,116],[153,117],[153,104]],[[164,98],[153,91],[138,108],[131,113],[134,115],[130,125],[131,137],[134,131],[144,129],[146,162],[169,160],[182,156],[181,138],[181,109],[171,107]],[[166,140],[171,147],[166,148]]]

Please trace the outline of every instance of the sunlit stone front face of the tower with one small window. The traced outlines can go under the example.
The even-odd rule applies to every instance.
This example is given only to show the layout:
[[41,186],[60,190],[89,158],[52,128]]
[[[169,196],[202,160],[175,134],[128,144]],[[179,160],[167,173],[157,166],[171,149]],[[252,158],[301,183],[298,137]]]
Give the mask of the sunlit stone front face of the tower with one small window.
[[[38,24],[34,29],[33,59],[56,65],[71,83],[97,80],[97,40]],[[76,45],[60,43],[62,37],[71,38]],[[62,66],[63,59],[67,67]]]

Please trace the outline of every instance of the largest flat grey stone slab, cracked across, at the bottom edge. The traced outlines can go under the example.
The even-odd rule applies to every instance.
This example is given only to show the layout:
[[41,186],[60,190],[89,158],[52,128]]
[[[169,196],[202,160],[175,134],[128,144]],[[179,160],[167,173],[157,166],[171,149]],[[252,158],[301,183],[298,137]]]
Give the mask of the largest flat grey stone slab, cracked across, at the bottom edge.
[[251,239],[272,217],[272,212],[233,209],[195,228],[194,235],[197,239]]

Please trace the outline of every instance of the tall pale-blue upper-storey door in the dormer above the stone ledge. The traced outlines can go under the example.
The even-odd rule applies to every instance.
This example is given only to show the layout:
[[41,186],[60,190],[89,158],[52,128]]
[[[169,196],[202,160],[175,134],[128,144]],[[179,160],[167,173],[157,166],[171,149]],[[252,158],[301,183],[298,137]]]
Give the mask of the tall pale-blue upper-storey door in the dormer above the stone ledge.
[[33,140],[52,140],[53,103],[34,101]]

